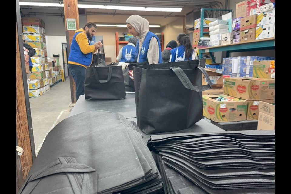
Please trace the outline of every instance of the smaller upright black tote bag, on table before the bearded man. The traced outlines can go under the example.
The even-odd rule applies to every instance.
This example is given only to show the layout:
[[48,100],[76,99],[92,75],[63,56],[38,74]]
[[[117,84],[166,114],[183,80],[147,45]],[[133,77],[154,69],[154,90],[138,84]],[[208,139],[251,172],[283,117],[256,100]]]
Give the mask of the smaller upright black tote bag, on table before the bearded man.
[[122,67],[87,67],[84,89],[86,100],[124,99],[126,93]]

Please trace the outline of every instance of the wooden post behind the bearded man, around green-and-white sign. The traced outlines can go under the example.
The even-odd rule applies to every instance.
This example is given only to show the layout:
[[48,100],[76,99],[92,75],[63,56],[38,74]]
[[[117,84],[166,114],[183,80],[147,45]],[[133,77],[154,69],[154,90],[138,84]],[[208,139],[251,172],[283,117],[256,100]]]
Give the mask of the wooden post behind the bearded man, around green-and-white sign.
[[[68,56],[70,54],[70,46],[72,43],[73,36],[75,35],[74,30],[67,30],[67,18],[76,20],[76,27],[79,30],[79,12],[78,12],[78,1],[77,0],[64,0],[64,12],[65,12],[65,30],[68,45]],[[69,40],[69,44],[68,44]],[[71,85],[71,100],[72,103],[76,103],[76,85],[72,75],[70,74],[70,85]]]

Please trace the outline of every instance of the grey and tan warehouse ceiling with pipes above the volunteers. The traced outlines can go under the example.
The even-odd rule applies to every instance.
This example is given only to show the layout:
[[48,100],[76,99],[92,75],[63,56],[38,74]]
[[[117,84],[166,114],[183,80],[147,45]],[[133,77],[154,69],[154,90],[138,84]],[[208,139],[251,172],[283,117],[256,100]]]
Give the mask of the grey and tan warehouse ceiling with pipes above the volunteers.
[[[20,2],[22,0],[19,0]],[[27,2],[28,0],[26,0]],[[63,3],[58,0],[30,0],[29,2],[53,2]],[[153,12],[153,11],[129,11],[113,9],[78,8],[79,15],[86,15],[88,22],[99,23],[124,23],[124,18],[138,14],[149,20],[150,24],[165,26],[187,13],[199,11],[200,8],[226,9],[227,0],[78,0],[79,4],[94,5],[118,5],[118,6],[142,6],[142,7],[167,7],[182,8],[181,12]],[[22,17],[33,17],[38,15],[51,15],[64,17],[63,7],[36,7],[20,5]],[[91,15],[91,16],[90,16]],[[104,17],[106,16],[107,17]],[[93,16],[93,17],[92,17]],[[103,17],[101,17],[103,16]],[[95,19],[93,19],[95,18]],[[98,20],[102,18],[102,21]],[[114,22],[112,22],[114,21]]]

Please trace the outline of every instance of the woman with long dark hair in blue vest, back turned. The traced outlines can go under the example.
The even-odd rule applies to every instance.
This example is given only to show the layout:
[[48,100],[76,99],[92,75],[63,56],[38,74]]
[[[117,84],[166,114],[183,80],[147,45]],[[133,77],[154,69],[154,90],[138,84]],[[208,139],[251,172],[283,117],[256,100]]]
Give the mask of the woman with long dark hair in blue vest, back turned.
[[194,49],[189,36],[181,33],[177,37],[178,47],[171,50],[170,62],[187,61],[195,59]]

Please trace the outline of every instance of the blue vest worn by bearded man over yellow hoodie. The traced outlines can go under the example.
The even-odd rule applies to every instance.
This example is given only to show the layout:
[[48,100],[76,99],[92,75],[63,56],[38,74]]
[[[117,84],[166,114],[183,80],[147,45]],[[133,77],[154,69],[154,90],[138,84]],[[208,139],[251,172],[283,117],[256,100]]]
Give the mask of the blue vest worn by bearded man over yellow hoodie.
[[[76,34],[73,37],[72,43],[71,43],[71,50],[69,55],[69,61],[73,61],[76,63],[80,63],[85,66],[91,65],[93,54],[92,52],[89,52],[88,54],[82,53],[77,41],[76,41],[76,35],[79,33],[85,33],[85,32],[76,32]],[[88,38],[88,37],[87,37]],[[89,45],[92,45],[91,42],[88,39]]]

